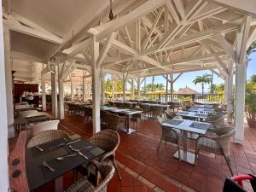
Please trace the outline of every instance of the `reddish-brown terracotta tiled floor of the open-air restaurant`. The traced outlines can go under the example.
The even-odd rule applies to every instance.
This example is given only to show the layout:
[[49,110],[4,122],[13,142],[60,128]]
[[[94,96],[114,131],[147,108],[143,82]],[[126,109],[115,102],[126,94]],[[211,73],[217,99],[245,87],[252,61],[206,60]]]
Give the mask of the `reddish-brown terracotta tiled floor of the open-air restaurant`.
[[[256,173],[256,129],[245,123],[243,146],[232,143],[230,159],[235,174]],[[91,136],[91,123],[81,117],[67,117],[61,121],[60,129],[68,133]],[[108,184],[108,192],[146,192],[146,191],[198,191],[220,192],[225,177],[230,177],[224,158],[214,154],[200,154],[197,165],[192,166],[172,157],[177,148],[172,144],[162,144],[157,152],[160,126],[157,121],[144,120],[137,133],[120,133],[121,142],[116,153],[122,181],[115,175]],[[195,142],[190,141],[190,149]],[[65,187],[72,183],[72,175],[64,177]],[[249,183],[244,186],[248,191]],[[52,191],[53,183],[37,191]]]

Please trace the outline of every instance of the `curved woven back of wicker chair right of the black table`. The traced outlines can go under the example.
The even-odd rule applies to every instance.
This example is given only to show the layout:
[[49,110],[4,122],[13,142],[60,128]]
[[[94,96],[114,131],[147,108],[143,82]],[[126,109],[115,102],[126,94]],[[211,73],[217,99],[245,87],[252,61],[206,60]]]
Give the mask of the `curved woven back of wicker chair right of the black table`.
[[102,148],[106,153],[114,154],[120,143],[119,133],[110,129],[99,131],[90,138],[90,143]]

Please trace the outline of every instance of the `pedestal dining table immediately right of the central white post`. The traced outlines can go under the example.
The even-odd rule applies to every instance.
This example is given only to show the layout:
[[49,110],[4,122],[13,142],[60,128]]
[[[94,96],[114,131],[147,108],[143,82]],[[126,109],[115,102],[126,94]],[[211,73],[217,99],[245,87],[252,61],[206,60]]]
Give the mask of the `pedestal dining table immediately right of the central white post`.
[[131,108],[115,108],[115,107],[110,107],[110,106],[101,106],[101,110],[125,115],[126,119],[127,119],[127,125],[125,127],[121,127],[120,130],[125,132],[126,134],[131,134],[131,133],[136,132],[135,129],[132,129],[130,127],[131,116],[134,114],[143,113],[143,111],[135,110],[135,109],[131,109]]

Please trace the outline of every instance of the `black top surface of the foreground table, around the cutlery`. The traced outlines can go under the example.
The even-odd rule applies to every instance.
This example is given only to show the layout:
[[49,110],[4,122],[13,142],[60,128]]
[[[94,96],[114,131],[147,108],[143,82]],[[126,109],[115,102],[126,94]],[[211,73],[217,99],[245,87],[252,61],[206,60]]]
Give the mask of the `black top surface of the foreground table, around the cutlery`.
[[[67,138],[67,140],[72,141],[69,138]],[[92,146],[92,148],[81,150],[81,153],[87,156],[88,160],[84,159],[84,157],[79,154],[76,154],[73,157],[67,157],[64,160],[56,160],[57,157],[76,153],[73,152],[68,145],[49,149],[52,146],[63,142],[64,140],[61,138],[54,142],[40,145],[39,147],[43,148],[44,152],[39,151],[38,148],[35,147],[26,149],[26,177],[30,190],[37,189],[44,183],[47,183],[56,177],[61,177],[64,173],[69,172],[77,166],[81,166],[96,158],[96,156],[104,153],[102,148],[92,146],[89,141],[81,138],[80,141],[70,145],[76,149]],[[47,167],[42,166],[43,160],[47,161],[47,164],[54,168],[55,172],[50,172]]]

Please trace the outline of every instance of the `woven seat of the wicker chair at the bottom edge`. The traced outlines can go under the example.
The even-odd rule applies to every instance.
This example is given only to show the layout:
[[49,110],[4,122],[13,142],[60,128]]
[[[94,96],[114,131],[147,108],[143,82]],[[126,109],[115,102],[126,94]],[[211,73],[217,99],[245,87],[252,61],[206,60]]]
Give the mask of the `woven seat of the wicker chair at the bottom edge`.
[[95,190],[95,187],[90,183],[86,177],[80,178],[76,183],[73,183],[66,192],[92,192]]

